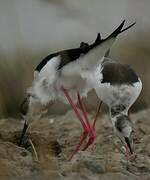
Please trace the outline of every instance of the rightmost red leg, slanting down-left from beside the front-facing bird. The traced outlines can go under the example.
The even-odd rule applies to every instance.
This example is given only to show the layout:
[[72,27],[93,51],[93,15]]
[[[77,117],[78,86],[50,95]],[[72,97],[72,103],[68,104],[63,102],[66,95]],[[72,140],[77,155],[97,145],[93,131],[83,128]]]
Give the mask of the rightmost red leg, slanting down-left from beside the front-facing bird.
[[95,138],[96,138],[96,131],[95,131],[95,124],[96,124],[96,120],[98,118],[100,109],[101,109],[101,105],[102,105],[102,101],[99,103],[97,111],[96,111],[96,115],[95,115],[95,119],[93,121],[92,124],[92,131],[93,131],[93,135],[89,138],[89,141],[87,142],[87,144],[85,145],[85,147],[82,149],[83,151],[85,151],[91,144],[93,144]]

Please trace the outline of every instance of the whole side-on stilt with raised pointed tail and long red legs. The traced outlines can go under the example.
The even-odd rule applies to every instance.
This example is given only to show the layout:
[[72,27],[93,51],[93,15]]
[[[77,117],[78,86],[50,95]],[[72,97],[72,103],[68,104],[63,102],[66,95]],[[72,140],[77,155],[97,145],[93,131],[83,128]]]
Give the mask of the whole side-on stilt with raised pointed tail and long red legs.
[[[95,131],[90,126],[85,107],[81,101],[81,97],[86,96],[87,92],[93,88],[88,85],[87,78],[91,72],[95,71],[99,60],[112,46],[118,34],[134,25],[132,24],[122,30],[124,23],[125,20],[106,39],[101,39],[98,33],[93,44],[85,46],[84,43],[81,43],[80,48],[50,54],[35,68],[34,80],[21,105],[21,113],[26,116],[31,115],[32,109],[36,107],[37,103],[43,106],[55,100],[69,103],[84,130],[74,153],[79,150],[87,136],[89,136],[89,141],[86,148],[95,139]],[[76,107],[77,101],[81,111]],[[28,123],[25,121],[19,145],[22,144]]]

